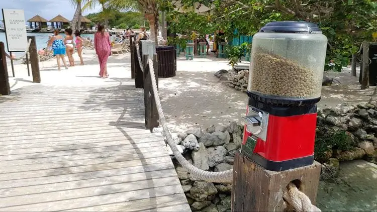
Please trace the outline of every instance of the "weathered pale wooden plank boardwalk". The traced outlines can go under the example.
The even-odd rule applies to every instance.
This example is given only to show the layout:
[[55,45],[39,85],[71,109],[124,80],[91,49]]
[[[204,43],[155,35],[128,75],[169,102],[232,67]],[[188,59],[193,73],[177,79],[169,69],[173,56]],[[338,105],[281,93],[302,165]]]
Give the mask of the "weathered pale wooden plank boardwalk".
[[191,211],[143,90],[35,84],[0,96],[1,211]]

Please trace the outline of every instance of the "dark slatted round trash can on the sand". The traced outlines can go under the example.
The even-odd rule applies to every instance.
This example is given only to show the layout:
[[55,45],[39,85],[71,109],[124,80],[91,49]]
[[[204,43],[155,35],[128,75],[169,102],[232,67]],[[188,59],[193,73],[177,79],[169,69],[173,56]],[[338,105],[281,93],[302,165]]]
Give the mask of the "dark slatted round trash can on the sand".
[[156,47],[158,77],[175,76],[177,70],[177,57],[175,46]]

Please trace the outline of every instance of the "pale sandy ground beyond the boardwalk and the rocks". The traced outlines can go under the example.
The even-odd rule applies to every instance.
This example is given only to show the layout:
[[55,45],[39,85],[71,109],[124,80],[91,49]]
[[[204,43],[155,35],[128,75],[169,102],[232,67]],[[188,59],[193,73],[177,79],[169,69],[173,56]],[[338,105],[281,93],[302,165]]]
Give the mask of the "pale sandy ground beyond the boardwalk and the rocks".
[[[84,50],[85,65],[76,65],[57,70],[56,60],[40,62],[41,83],[46,85],[106,85],[107,83],[131,78],[130,54],[112,55],[108,62],[110,77],[99,77],[99,65],[95,51]],[[79,64],[77,54],[74,54]],[[67,60],[68,61],[68,60]],[[246,63],[247,64],[247,63]],[[159,92],[165,117],[172,131],[186,130],[197,126],[207,128],[210,125],[227,125],[231,121],[241,123],[245,113],[247,96],[222,84],[213,74],[220,69],[230,69],[226,59],[194,58],[177,59],[175,77],[159,78]],[[8,64],[9,80],[12,90],[32,86],[32,77],[28,76],[26,65],[15,65],[16,77],[12,76]],[[342,73],[325,73],[334,77],[340,84],[322,88],[319,108],[334,107],[343,102],[362,103],[369,99],[373,87],[361,90],[357,77],[352,77],[350,69]]]

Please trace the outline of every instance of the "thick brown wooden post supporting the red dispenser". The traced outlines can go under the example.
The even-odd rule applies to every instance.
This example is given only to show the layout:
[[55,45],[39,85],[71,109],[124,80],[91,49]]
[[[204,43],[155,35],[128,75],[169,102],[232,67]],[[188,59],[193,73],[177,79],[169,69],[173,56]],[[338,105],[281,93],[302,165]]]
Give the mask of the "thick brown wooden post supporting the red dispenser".
[[294,182],[315,204],[321,164],[286,170],[269,171],[241,153],[233,165],[232,211],[285,211],[283,192]]

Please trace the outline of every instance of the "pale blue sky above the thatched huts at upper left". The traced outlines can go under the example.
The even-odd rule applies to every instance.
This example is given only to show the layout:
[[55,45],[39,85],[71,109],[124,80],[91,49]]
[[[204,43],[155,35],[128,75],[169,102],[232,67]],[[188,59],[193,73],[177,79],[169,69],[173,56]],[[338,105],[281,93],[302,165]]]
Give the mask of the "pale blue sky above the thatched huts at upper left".
[[[70,0],[0,0],[0,9],[21,9],[24,10],[25,20],[39,15],[51,20],[57,15],[62,15],[72,20],[75,8]],[[101,7],[97,6],[91,11],[84,11],[82,15],[100,12]],[[3,20],[1,15],[0,20]]]

